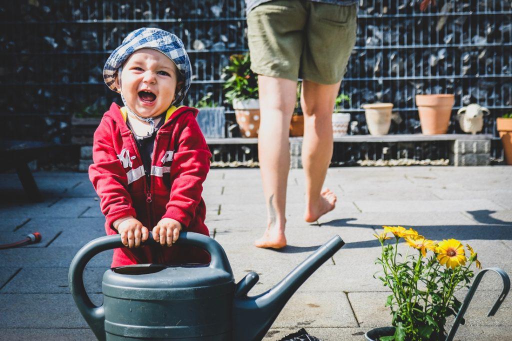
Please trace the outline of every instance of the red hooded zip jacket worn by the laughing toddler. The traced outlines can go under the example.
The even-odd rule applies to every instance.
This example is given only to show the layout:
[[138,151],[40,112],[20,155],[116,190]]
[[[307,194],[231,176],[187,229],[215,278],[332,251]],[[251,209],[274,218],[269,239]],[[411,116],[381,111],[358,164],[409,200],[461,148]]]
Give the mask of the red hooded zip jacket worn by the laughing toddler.
[[[206,207],[201,197],[209,171],[210,151],[196,121],[198,110],[172,107],[155,138],[148,186],[144,166],[126,114],[112,103],[94,133],[89,178],[101,200],[107,235],[115,235],[114,221],[133,216],[151,230],[162,218],[179,221],[185,231],[208,236]],[[208,263],[206,251],[181,246],[148,245],[114,250],[112,267],[184,262]]]

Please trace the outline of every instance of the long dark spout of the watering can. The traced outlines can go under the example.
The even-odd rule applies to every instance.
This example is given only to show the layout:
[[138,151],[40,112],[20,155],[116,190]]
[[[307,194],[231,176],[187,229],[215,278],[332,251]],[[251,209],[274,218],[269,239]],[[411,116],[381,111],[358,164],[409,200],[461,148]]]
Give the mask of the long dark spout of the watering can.
[[339,236],[334,236],[272,289],[257,296],[247,296],[247,292],[259,280],[257,273],[249,272],[237,284],[234,293],[233,339],[262,339],[293,293],[343,245],[345,242]]

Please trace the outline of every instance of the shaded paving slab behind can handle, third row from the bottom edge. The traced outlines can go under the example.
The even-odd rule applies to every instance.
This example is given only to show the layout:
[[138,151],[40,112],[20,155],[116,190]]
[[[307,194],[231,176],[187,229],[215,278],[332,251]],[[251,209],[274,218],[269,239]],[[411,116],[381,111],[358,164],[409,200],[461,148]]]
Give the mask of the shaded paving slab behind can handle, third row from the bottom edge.
[[[87,267],[83,281],[88,293],[101,293],[101,281],[105,268]],[[69,293],[69,267],[24,268],[0,290],[0,293]]]

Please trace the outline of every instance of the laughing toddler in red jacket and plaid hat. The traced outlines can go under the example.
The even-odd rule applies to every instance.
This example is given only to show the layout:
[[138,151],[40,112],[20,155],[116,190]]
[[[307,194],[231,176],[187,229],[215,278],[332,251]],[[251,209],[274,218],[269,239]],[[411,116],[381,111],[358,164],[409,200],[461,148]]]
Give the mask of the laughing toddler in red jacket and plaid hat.
[[[157,28],[131,32],[103,69],[112,103],[94,134],[89,178],[101,200],[108,235],[129,248],[114,250],[112,266],[208,263],[195,247],[175,245],[182,230],[208,236],[202,183],[210,152],[198,110],[178,105],[190,87],[182,41]],[[152,238],[159,244],[139,247]]]

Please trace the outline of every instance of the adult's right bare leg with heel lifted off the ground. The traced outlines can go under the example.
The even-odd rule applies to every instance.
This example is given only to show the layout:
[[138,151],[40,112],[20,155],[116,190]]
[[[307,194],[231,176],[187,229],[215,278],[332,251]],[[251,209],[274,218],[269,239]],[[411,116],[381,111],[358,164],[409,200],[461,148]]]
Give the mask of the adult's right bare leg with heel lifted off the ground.
[[336,196],[322,189],[332,158],[332,112],[340,82],[318,84],[304,80],[301,106],[304,112],[302,165],[306,174],[306,211],[304,220],[314,222],[334,209]]

